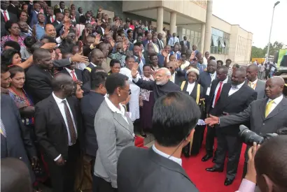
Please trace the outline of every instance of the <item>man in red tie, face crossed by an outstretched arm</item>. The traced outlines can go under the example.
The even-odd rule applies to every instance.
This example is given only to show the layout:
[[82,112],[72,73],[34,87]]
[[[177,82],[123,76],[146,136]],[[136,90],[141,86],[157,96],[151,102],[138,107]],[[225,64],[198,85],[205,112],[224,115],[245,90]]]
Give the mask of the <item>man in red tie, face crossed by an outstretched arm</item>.
[[[69,59],[70,57],[73,57],[73,54],[71,53],[64,53],[62,54],[62,59]],[[83,71],[81,71],[76,67],[76,62],[71,62],[69,66],[65,66],[60,73],[64,73],[66,75],[70,75],[73,78],[73,81],[81,81],[83,82]]]

